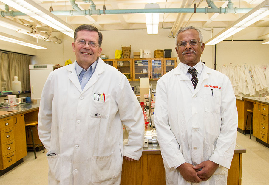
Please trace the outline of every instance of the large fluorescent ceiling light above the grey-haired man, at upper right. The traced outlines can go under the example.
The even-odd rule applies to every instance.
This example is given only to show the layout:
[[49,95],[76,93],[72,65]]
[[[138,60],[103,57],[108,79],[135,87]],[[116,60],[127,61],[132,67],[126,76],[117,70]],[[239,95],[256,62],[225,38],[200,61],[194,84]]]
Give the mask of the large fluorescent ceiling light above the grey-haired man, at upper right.
[[219,32],[213,38],[205,42],[205,45],[215,45],[225,38],[228,38],[235,33],[241,31],[242,29],[250,26],[251,24],[259,21],[265,16],[269,15],[269,0],[263,1],[261,4],[253,8],[251,11],[246,13],[244,16],[239,18],[233,24],[231,24],[226,29]]

